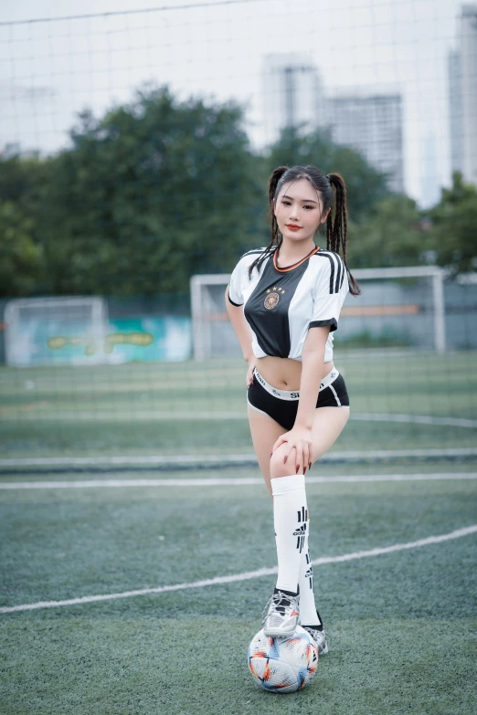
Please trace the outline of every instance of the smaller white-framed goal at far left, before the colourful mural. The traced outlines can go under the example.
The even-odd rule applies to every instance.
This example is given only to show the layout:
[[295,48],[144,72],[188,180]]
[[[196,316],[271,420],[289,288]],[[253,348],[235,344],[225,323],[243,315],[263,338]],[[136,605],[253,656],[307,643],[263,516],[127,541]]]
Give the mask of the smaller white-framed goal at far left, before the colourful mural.
[[14,367],[111,363],[108,310],[98,297],[27,298],[5,307],[5,357]]

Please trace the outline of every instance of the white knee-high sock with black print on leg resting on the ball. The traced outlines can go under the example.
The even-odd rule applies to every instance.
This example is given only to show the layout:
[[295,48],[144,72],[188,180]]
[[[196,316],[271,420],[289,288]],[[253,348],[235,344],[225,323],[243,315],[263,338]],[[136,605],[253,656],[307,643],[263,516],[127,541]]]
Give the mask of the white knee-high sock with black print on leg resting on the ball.
[[277,588],[296,594],[308,520],[304,476],[273,478],[271,491],[278,558]]

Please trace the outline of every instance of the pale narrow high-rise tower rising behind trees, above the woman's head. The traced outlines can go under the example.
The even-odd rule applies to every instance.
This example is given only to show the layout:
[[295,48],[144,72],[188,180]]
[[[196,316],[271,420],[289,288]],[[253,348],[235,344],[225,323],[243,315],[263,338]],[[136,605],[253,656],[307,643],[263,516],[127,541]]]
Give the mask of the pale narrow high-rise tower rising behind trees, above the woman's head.
[[262,102],[265,141],[276,142],[285,127],[303,132],[323,125],[323,86],[310,58],[298,53],[263,58]]

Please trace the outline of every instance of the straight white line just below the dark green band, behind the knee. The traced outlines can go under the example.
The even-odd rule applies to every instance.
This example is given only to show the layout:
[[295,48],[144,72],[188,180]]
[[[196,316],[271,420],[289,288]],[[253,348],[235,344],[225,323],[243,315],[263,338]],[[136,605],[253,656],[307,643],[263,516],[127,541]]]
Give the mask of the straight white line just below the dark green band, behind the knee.
[[[447,479],[477,479],[477,472],[435,472],[429,474],[373,474],[344,477],[307,477],[307,484],[375,481],[433,481]],[[261,477],[236,479],[81,479],[77,481],[11,481],[0,482],[1,489],[122,489],[124,487],[244,487],[263,485]]]

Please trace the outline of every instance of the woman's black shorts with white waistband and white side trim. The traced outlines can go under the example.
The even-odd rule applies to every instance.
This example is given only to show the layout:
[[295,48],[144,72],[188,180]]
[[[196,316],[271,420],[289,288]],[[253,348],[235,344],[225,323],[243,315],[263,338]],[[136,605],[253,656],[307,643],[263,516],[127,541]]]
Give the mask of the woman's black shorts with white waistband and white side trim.
[[[247,391],[249,405],[286,430],[292,429],[298,411],[299,392],[277,390],[260,375],[257,368],[253,371],[253,382]],[[345,379],[336,368],[325,375],[318,393],[317,407],[349,407],[349,396]]]

